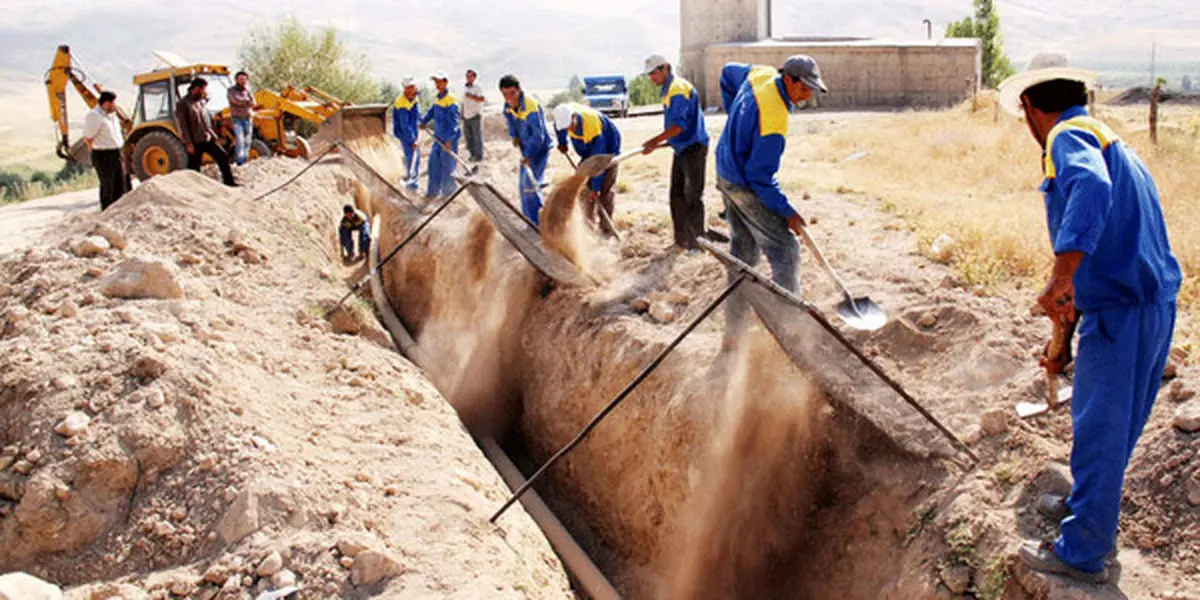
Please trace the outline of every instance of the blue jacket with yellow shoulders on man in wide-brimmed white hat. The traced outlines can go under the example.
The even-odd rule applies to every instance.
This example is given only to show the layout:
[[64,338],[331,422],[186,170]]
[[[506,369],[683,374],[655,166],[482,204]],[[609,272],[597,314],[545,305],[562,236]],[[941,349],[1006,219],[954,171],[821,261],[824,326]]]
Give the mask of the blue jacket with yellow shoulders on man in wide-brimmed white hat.
[[1084,107],[1046,136],[1046,223],[1055,254],[1082,252],[1075,306],[1098,311],[1175,300],[1182,274],[1145,163]]

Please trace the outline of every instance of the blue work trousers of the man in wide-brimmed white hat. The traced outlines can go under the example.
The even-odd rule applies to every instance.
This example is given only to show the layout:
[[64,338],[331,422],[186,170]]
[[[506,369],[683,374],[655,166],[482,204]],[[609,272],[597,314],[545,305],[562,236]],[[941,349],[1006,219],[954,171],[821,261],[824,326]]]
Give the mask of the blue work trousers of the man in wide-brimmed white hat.
[[1154,406],[1174,331],[1175,302],[1085,312],[1079,323],[1070,401],[1075,482],[1055,552],[1082,571],[1103,570],[1116,542],[1126,467]]

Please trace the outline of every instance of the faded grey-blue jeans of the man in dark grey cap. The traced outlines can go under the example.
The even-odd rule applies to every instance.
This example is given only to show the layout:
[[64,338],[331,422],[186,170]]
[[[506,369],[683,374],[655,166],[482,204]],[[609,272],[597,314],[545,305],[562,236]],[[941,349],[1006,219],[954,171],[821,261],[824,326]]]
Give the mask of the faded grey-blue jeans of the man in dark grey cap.
[[[730,253],[749,266],[758,264],[758,256],[767,254],[770,280],[781,288],[800,293],[797,268],[800,245],[787,228],[787,220],[772,212],[754,191],[719,180],[716,188],[725,199],[725,215],[730,220]],[[730,270],[732,283],[738,272]],[[745,296],[736,292],[725,301],[725,338],[737,340],[746,328],[749,306]]]

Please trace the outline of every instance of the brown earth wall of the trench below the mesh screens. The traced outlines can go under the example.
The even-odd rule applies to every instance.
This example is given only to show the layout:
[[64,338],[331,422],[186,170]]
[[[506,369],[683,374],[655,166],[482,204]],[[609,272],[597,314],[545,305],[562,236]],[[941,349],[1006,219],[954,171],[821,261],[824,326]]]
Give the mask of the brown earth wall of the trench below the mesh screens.
[[[385,251],[421,218],[394,196],[366,204]],[[680,325],[605,287],[546,286],[466,194],[457,204],[385,266],[388,295],[468,428],[536,464]],[[932,596],[920,533],[947,472],[833,408],[766,334],[733,356],[719,343],[685,340],[539,488],[617,588]]]

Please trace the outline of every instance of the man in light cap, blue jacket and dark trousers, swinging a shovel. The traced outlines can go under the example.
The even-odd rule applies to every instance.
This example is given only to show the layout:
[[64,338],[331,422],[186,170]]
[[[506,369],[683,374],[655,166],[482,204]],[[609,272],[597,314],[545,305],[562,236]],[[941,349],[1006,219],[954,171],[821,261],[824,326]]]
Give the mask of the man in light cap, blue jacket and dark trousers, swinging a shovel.
[[695,250],[704,235],[704,168],[708,161],[708,132],[700,94],[691,83],[676,77],[660,54],[646,59],[644,73],[662,89],[662,133],[646,140],[642,152],[650,154],[664,142],[674,150],[671,162],[671,222],[676,246]]

